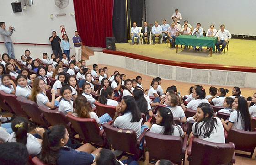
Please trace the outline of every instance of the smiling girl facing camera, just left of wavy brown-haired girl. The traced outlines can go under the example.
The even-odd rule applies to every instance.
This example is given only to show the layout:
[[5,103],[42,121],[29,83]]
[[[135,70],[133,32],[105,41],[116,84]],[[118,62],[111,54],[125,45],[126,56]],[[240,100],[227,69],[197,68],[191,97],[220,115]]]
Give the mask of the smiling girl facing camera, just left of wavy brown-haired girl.
[[64,85],[60,89],[60,95],[62,96],[59,103],[59,111],[63,112],[64,115],[72,114],[73,110],[73,101],[72,101],[72,89],[68,85]]

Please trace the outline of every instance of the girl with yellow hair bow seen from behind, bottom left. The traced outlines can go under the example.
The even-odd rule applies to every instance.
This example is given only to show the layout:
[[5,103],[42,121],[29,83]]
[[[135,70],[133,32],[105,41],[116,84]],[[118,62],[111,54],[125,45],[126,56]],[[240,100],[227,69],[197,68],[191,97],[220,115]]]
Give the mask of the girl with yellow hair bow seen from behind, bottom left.
[[8,142],[18,142],[26,145],[30,155],[38,155],[41,152],[41,140],[34,137],[29,132],[28,121],[24,117],[16,117],[11,122],[11,133]]

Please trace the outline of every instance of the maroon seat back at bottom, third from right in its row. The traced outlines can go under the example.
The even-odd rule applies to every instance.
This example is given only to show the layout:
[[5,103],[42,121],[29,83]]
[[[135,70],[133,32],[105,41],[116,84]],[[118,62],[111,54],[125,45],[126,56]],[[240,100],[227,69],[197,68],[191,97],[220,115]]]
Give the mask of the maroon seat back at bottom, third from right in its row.
[[167,159],[181,165],[183,145],[181,137],[146,132],[145,140],[149,151],[149,162]]

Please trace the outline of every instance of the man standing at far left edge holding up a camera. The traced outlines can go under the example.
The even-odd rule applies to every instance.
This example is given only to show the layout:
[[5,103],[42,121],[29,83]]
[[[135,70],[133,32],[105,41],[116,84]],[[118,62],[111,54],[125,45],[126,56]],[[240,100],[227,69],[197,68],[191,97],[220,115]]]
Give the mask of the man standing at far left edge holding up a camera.
[[9,30],[7,31],[5,29],[5,27],[6,27],[5,22],[0,22],[0,27],[1,27],[0,34],[3,37],[5,46],[8,50],[8,55],[9,55],[9,57],[15,59],[13,44],[12,44],[11,37],[10,37],[14,31],[14,28],[10,26]]

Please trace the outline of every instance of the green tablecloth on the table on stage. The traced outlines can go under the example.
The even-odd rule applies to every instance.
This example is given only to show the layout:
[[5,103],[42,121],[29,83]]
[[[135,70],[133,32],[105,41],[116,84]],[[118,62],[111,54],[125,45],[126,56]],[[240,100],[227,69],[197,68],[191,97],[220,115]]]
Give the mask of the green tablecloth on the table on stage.
[[216,37],[199,37],[191,36],[191,35],[180,35],[176,37],[175,40],[176,45],[188,45],[188,46],[204,46],[213,48],[215,51],[215,44],[217,43]]

